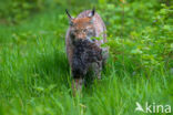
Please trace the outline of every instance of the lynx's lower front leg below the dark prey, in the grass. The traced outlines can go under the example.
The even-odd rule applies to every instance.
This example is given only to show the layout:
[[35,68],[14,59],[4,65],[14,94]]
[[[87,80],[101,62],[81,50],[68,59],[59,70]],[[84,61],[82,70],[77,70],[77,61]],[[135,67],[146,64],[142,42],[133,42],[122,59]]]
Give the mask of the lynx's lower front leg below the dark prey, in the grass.
[[82,84],[83,84],[83,79],[74,79],[72,81],[72,90],[73,90],[73,95],[75,96],[77,92],[81,92],[82,91]]

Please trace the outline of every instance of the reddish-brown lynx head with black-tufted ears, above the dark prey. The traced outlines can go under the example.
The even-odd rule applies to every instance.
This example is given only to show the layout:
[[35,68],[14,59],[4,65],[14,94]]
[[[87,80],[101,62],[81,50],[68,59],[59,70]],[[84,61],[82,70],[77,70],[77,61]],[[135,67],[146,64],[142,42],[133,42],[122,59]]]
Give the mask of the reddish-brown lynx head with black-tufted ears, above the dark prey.
[[95,30],[93,27],[93,17],[95,10],[93,9],[88,17],[84,18],[72,18],[67,11],[69,22],[70,22],[70,36],[72,41],[89,40],[95,35]]

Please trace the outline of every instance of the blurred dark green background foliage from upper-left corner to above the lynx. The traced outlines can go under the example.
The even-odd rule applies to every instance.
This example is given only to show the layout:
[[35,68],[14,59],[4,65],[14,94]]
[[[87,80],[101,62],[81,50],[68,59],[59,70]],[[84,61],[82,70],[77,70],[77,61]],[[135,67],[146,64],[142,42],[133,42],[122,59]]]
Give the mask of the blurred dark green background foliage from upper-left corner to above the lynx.
[[[71,8],[70,6],[83,6],[88,1],[75,0],[6,0],[0,1],[0,21],[2,23],[20,23],[27,18],[33,17],[37,12],[54,10],[58,8]],[[93,3],[95,2],[92,1]],[[63,10],[64,10],[63,9]]]

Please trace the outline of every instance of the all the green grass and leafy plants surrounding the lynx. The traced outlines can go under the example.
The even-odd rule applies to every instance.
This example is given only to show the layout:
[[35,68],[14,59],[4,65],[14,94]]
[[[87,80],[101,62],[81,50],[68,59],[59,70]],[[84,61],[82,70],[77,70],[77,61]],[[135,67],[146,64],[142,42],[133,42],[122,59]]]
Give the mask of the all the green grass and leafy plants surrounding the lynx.
[[[171,4],[167,0],[0,1],[0,115],[145,115],[134,111],[136,102],[173,107]],[[77,15],[93,6],[108,28],[110,58],[102,80],[73,97],[64,9]]]

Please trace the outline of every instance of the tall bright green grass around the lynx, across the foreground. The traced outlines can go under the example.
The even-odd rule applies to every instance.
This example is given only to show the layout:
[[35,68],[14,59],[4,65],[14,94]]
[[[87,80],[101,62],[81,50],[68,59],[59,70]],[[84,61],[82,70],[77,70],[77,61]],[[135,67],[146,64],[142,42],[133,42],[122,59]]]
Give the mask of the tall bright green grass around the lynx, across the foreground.
[[[120,25],[118,23],[115,28],[116,33]],[[152,27],[150,22],[147,25]],[[108,24],[110,41],[121,42],[120,36],[111,31],[114,28],[110,27]],[[145,24],[131,28],[136,31],[147,30]],[[140,40],[130,46],[130,41],[123,41],[123,45],[113,44],[115,48],[121,45],[124,56],[115,52],[115,59],[114,53],[111,53],[102,80],[94,81],[83,88],[81,96],[73,97],[64,48],[67,29],[68,19],[59,10],[41,13],[19,25],[0,27],[0,115],[145,115],[134,112],[135,102],[173,107],[171,64],[164,66],[161,63],[153,69],[156,65],[152,63],[152,69],[145,69],[145,60],[140,59],[142,56],[131,54],[129,58],[129,53],[125,53],[134,45],[145,45],[140,44]],[[134,34],[132,32],[131,35],[135,38]],[[141,34],[136,36],[142,38]],[[128,33],[124,38],[131,40]],[[151,49],[157,52],[154,51],[157,48]],[[140,69],[135,69],[139,64]]]

